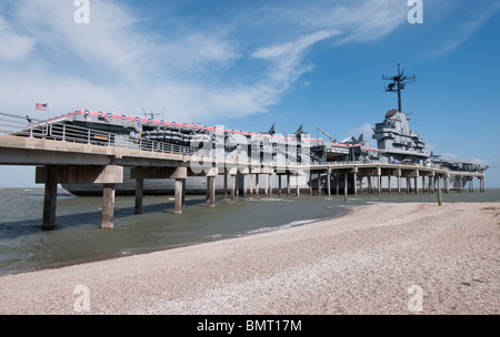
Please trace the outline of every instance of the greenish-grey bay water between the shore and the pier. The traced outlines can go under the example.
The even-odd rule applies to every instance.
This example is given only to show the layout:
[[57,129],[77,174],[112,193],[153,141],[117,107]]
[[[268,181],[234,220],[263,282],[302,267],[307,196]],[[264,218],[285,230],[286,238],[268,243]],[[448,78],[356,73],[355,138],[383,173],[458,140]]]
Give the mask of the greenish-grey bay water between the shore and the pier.
[[[443,194],[444,202],[500,202],[500,190]],[[41,231],[43,190],[0,188],[0,275],[171,248],[297,226],[346,213],[346,206],[387,202],[436,202],[436,194],[271,197],[217,201],[188,196],[182,215],[171,196],[118,196],[114,229],[100,229],[101,197],[58,194],[57,227]]]

